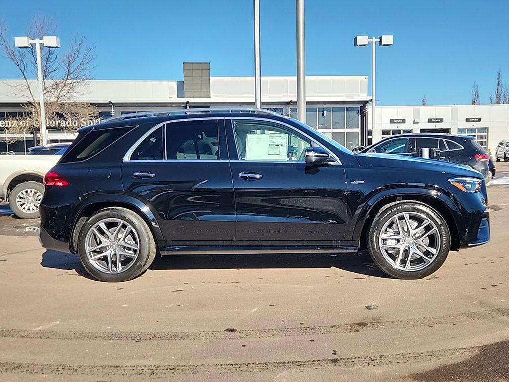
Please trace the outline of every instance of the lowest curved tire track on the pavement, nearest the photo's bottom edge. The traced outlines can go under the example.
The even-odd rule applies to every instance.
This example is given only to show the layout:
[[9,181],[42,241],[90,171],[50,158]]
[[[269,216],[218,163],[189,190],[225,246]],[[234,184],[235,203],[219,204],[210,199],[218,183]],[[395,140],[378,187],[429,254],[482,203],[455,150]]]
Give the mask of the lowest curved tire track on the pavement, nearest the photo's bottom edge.
[[81,375],[94,377],[167,377],[179,373],[202,373],[214,370],[222,373],[260,372],[272,369],[304,369],[310,367],[370,367],[423,363],[471,356],[481,346],[458,347],[433,351],[378,354],[364,357],[325,358],[299,361],[267,361],[216,364],[170,364],[170,365],[71,365],[48,363],[0,362],[0,374],[23,373],[45,375]]

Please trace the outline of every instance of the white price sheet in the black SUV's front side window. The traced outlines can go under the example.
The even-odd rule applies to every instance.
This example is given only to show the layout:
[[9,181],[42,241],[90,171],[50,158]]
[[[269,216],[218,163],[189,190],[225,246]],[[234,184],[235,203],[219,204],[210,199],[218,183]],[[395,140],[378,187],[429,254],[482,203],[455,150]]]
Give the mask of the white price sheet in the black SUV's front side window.
[[246,134],[246,160],[288,160],[288,134]]

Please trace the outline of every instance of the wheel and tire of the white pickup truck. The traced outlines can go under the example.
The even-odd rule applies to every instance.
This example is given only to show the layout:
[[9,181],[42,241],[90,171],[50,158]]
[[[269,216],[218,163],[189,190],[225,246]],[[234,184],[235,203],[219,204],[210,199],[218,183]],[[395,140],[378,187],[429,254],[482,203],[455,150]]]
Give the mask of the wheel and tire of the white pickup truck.
[[9,207],[21,219],[38,219],[44,184],[34,180],[19,183],[9,195]]

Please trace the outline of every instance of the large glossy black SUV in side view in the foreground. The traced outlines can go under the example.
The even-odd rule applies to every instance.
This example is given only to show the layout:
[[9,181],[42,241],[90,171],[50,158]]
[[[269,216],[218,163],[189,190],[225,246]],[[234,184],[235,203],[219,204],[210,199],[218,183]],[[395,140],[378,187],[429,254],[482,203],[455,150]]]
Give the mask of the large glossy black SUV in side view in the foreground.
[[486,185],[436,160],[357,154],[264,110],[115,117],[84,127],[45,176],[40,240],[104,281],[156,254],[356,252],[430,275],[489,241]]

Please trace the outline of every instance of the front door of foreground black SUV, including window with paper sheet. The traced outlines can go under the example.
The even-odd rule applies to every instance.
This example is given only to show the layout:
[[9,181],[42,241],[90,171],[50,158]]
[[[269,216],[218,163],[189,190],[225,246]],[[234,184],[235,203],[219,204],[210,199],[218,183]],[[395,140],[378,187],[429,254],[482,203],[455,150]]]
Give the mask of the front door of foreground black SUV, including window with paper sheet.
[[[230,162],[237,211],[236,244],[339,245],[347,215],[343,166],[307,165],[299,157],[310,142],[300,140],[292,130],[287,130],[285,138],[288,127],[270,123],[276,126],[272,131],[267,125],[253,127],[247,133],[242,131],[245,125],[228,131],[229,149],[235,147],[241,158],[257,158]],[[227,129],[231,126],[228,119],[226,125]],[[272,139],[262,137],[261,131],[272,134]],[[255,142],[259,146],[253,147]],[[282,151],[275,148],[277,144]],[[281,159],[272,160],[271,155]]]

